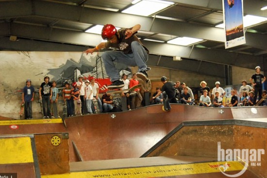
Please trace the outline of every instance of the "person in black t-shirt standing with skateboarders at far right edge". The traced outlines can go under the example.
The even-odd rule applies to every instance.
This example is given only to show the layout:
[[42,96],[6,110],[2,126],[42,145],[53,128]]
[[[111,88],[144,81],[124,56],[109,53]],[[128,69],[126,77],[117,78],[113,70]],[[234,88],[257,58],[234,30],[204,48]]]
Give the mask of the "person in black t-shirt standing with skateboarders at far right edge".
[[[256,100],[260,101],[262,99],[262,84],[265,82],[266,80],[266,77],[261,74],[261,67],[260,66],[257,66],[255,67],[255,71],[256,73],[254,73],[251,78],[250,78],[250,82],[254,88],[254,97],[255,97],[255,100],[253,101],[254,105],[256,104]],[[257,97],[259,96],[259,99],[257,99]]]

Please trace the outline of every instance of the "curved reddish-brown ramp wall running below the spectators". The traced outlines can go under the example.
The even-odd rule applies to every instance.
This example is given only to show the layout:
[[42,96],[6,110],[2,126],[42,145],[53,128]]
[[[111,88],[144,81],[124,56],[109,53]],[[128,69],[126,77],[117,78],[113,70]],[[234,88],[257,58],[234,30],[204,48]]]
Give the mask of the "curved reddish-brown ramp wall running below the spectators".
[[[183,121],[221,120],[238,117],[238,108],[206,108],[171,105],[169,112],[162,105],[142,107],[125,112],[72,117],[63,123],[51,120],[16,120],[16,124],[0,121],[0,134],[69,133],[69,158],[78,161],[73,141],[83,160],[138,158]],[[257,110],[256,113],[255,109]],[[241,118],[267,117],[266,107],[242,108]],[[253,112],[252,112],[253,111]],[[34,123],[43,121],[42,123]],[[16,129],[14,129],[16,127]]]

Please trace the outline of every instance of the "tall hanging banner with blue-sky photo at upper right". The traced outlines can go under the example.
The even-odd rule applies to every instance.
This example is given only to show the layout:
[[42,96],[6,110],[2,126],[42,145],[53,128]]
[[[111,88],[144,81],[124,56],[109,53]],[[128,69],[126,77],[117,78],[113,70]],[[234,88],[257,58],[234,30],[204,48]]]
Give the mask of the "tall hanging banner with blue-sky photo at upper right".
[[222,0],[225,24],[225,49],[246,43],[243,25],[243,0]]

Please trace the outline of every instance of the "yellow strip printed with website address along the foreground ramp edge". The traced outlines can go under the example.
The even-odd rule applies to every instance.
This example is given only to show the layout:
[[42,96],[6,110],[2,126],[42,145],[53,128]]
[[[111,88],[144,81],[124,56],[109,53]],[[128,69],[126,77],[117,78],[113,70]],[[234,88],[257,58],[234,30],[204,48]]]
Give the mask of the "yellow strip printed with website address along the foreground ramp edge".
[[125,169],[110,169],[100,171],[71,172],[70,174],[46,175],[42,176],[42,178],[152,178],[216,173],[221,171],[241,171],[243,168],[244,165],[238,161],[220,161],[193,164],[136,167]]

